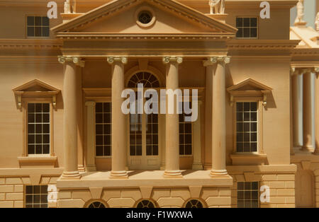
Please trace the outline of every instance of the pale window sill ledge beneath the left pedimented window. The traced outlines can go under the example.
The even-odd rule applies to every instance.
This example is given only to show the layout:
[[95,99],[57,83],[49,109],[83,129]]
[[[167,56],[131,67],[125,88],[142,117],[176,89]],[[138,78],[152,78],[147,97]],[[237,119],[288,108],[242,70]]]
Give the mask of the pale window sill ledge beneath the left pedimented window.
[[19,156],[20,168],[54,168],[57,156]]

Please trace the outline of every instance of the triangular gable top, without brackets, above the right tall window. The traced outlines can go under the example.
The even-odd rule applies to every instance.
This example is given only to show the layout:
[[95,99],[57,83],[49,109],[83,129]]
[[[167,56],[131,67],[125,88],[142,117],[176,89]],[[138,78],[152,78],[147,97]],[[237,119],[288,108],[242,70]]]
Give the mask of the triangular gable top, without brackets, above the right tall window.
[[263,93],[267,93],[272,91],[272,88],[259,83],[252,78],[247,78],[245,81],[242,81],[234,86],[230,86],[227,90],[230,93],[234,91],[261,91]]

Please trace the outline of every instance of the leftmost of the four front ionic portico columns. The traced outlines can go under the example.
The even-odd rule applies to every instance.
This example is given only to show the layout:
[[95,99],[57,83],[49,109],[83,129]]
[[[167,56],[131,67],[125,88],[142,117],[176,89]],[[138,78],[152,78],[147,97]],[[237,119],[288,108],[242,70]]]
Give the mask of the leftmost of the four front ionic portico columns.
[[79,57],[59,57],[59,62],[65,64],[65,79],[63,84],[63,146],[65,151],[65,170],[62,180],[76,180],[80,178],[77,150],[77,94],[80,76],[77,65],[84,66]]

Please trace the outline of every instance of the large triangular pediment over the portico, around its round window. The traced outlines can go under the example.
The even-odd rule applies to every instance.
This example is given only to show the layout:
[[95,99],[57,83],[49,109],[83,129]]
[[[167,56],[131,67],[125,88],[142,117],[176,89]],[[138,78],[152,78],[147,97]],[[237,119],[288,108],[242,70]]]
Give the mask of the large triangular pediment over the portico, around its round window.
[[[142,27],[137,22],[140,8],[150,8],[155,22]],[[233,26],[173,0],[116,0],[52,28],[55,33],[224,33],[233,35]]]

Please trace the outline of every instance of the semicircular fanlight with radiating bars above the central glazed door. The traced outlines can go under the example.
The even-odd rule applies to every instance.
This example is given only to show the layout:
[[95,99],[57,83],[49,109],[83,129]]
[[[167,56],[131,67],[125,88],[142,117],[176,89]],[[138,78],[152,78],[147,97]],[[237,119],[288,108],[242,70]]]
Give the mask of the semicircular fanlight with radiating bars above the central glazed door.
[[138,88],[138,83],[142,83],[144,88],[159,88],[156,76],[145,71],[134,74],[128,81],[128,88]]

